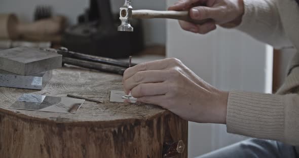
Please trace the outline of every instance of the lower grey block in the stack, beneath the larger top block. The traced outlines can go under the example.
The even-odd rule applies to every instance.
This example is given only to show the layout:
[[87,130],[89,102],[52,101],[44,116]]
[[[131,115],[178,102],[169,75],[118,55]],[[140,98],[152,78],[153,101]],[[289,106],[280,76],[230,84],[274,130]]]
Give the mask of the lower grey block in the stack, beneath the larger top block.
[[0,70],[0,87],[42,90],[51,78],[52,70],[27,76]]

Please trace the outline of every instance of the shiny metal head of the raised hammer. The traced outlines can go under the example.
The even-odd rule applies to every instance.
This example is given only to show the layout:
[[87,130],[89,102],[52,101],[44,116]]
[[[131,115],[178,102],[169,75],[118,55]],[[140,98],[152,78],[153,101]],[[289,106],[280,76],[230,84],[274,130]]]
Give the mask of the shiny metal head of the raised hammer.
[[120,20],[122,21],[122,24],[118,27],[118,31],[132,32],[134,29],[130,24],[133,10],[131,6],[131,0],[125,0],[125,4],[120,8],[120,10]]

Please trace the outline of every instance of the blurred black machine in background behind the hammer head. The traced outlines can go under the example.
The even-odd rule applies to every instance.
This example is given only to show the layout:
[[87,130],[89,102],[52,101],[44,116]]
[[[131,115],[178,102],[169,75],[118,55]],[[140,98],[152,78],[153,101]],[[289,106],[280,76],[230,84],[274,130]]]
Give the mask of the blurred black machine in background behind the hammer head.
[[113,15],[110,7],[110,0],[90,0],[90,8],[78,17],[79,24],[65,30],[62,46],[109,58],[124,58],[142,51],[141,20],[132,20],[134,32],[118,31],[119,14]]

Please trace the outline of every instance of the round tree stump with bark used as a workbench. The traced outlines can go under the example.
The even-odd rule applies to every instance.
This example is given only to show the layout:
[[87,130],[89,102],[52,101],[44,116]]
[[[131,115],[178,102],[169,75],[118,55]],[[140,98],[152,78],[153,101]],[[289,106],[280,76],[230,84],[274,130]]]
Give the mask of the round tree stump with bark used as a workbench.
[[[164,143],[182,140],[188,122],[155,105],[110,103],[122,76],[77,67],[53,70],[42,91],[0,88],[0,157],[163,157]],[[76,113],[10,109],[24,93],[103,100],[85,101]]]

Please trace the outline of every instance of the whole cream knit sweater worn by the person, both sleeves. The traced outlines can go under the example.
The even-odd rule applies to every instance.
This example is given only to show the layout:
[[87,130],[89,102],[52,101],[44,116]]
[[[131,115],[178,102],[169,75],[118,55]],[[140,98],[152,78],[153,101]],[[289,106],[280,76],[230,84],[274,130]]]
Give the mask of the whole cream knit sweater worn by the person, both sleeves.
[[[276,48],[294,46],[299,50],[299,7],[295,0],[244,0],[244,5],[245,14],[237,29]],[[298,65],[297,53],[277,94],[230,92],[227,131],[299,146]]]

